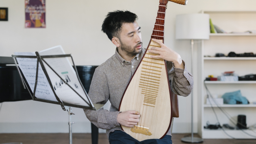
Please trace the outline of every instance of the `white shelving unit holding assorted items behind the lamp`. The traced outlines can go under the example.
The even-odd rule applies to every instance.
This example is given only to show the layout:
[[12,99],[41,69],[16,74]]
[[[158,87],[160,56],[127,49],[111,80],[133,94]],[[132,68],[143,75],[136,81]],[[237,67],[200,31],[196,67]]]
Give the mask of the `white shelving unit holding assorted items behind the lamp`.
[[[245,52],[256,53],[255,33],[230,33],[232,31],[256,30],[256,11],[202,11],[207,13],[213,24],[219,26],[228,33],[211,33],[210,40],[204,40],[198,46],[197,53],[197,75],[198,75],[198,134],[202,138],[230,138],[221,129],[204,129],[206,122],[217,123],[216,117],[211,109],[211,105],[206,104],[206,90],[204,79],[208,75],[220,76],[225,71],[235,71],[239,76],[246,74],[256,74],[256,57],[214,57],[216,53],[237,54]],[[211,57],[204,57],[210,55]],[[225,92],[241,90],[249,102],[256,102],[256,81],[205,81],[211,94],[221,97]],[[213,105],[219,121],[222,124],[232,123],[226,116]],[[248,105],[219,105],[222,109],[237,120],[237,115],[247,116],[247,126],[256,123],[256,104]],[[256,133],[245,130],[247,133],[256,136]],[[240,130],[226,129],[226,133],[235,138],[253,138]]]

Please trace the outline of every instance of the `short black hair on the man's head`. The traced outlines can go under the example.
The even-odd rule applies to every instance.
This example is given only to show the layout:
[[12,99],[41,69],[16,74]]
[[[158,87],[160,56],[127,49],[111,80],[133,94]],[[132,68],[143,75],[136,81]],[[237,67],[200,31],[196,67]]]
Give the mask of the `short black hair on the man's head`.
[[137,19],[137,15],[130,11],[113,11],[106,15],[102,23],[102,31],[108,35],[108,38],[112,41],[113,37],[119,37],[119,33],[123,23],[133,23]]

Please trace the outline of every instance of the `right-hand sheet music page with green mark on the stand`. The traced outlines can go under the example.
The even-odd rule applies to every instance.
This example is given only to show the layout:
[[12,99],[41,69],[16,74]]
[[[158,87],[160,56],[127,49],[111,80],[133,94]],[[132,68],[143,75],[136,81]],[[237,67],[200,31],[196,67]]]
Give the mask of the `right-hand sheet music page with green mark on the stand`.
[[[39,55],[61,55],[65,54],[61,46],[55,46],[39,52]],[[82,85],[80,84],[76,72],[71,65],[67,57],[58,57],[58,58],[44,58],[46,63],[54,69],[55,72],[67,82],[82,98],[88,102],[92,103],[90,99],[87,99],[87,93],[83,90]],[[44,62],[43,62],[44,63]],[[68,85],[65,84],[51,69],[49,66],[44,63],[45,69],[50,77],[54,90],[57,96],[67,103],[72,103],[76,105],[89,106],[85,101],[78,96]]]

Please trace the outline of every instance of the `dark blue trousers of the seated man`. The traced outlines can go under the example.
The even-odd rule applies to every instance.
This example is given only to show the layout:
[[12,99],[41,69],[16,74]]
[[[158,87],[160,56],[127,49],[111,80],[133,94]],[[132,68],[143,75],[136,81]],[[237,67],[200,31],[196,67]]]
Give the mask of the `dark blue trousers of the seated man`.
[[109,133],[108,140],[110,144],[173,144],[171,138],[170,135],[165,135],[162,139],[148,139],[139,142],[127,133],[116,130]]

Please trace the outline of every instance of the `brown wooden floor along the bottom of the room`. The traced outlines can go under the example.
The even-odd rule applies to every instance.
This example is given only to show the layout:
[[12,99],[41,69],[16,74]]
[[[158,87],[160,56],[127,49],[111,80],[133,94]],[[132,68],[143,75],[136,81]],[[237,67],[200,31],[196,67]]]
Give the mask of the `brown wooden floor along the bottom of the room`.
[[[186,134],[173,134],[173,143],[185,144],[180,141],[180,139],[185,135]],[[22,142],[22,144],[69,144],[69,134],[0,134],[0,144],[9,142]],[[73,144],[91,144],[91,134],[74,133]],[[99,134],[98,144],[109,144],[106,134]],[[256,144],[256,140],[204,139],[204,144]]]

